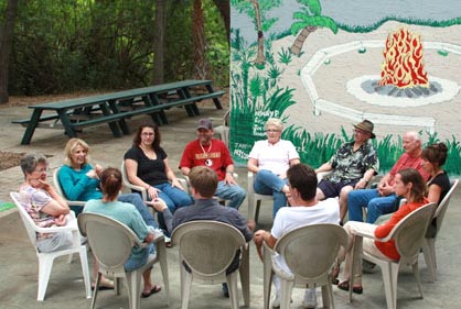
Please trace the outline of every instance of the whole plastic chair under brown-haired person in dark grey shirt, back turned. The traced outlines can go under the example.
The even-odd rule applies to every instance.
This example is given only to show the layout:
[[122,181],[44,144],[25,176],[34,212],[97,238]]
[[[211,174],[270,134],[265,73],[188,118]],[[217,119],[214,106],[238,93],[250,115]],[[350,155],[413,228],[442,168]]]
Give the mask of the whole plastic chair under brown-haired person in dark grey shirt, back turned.
[[[244,302],[249,307],[249,253],[240,231],[223,222],[200,220],[179,225],[171,239],[174,245],[179,245],[182,309],[189,306],[192,279],[208,285],[226,280],[230,308],[239,308],[237,271],[226,275],[226,269],[238,251]],[[184,264],[189,266],[189,271]]]

